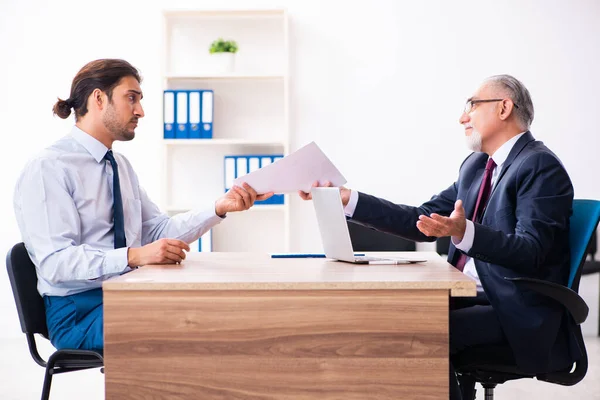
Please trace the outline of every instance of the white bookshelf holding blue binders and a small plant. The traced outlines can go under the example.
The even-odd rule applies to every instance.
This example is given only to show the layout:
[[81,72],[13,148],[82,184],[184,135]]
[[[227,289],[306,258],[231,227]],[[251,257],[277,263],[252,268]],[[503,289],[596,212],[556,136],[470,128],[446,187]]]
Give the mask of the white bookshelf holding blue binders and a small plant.
[[[162,139],[163,208],[174,215],[212,207],[224,194],[224,157],[288,154],[288,18],[285,10],[164,11],[163,88],[214,91],[212,139]],[[235,69],[223,72],[209,47],[235,40]],[[163,128],[160,127],[160,137]],[[289,251],[289,198],[228,214],[213,251]]]

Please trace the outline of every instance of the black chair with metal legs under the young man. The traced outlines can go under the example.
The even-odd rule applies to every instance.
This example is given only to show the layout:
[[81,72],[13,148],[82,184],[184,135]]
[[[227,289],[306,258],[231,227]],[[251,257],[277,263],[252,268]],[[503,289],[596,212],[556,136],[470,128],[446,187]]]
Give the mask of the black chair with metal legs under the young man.
[[[48,358],[40,356],[37,350],[34,334],[38,333],[48,339],[46,326],[46,310],[44,301],[37,291],[37,275],[35,266],[27,254],[23,243],[18,243],[6,256],[6,269],[12,286],[21,330],[27,337],[29,352],[33,360],[46,369],[42,400],[50,396],[52,376],[63,372],[80,371],[90,368],[101,368],[104,359],[101,353],[89,350],[62,349],[57,350]],[[104,372],[104,369],[101,369]]]

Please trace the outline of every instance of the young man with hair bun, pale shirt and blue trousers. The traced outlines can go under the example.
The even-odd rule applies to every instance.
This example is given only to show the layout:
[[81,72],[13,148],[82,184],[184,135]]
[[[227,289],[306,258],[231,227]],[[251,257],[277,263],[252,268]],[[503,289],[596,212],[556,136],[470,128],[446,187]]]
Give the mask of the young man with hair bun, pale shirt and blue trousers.
[[73,79],[54,113],[75,111],[71,133],[30,161],[14,196],[19,229],[38,275],[50,340],[56,348],[103,348],[102,281],[131,268],[179,263],[187,243],[247,210],[257,195],[233,187],[213,209],[169,218],[139,184],[129,161],[114,153],[132,140],[144,116],[138,71],[128,62],[96,60]]

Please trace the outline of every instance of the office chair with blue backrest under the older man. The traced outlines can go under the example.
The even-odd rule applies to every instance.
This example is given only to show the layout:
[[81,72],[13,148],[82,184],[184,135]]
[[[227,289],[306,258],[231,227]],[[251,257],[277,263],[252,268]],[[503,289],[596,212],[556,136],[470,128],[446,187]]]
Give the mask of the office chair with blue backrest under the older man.
[[540,371],[524,373],[516,366],[512,350],[506,346],[482,346],[468,349],[453,358],[464,400],[474,400],[475,382],[481,383],[485,390],[485,399],[493,400],[494,388],[513,379],[537,378],[540,381],[572,386],[581,381],[588,368],[587,352],[581,334],[581,324],[586,320],[589,308],[577,294],[582,266],[586,260],[587,248],[593,232],[600,220],[600,201],[574,200],[569,242],[571,245],[571,271],[567,286],[558,285],[533,278],[506,278],[518,285],[548,296],[568,311],[576,324],[577,344],[583,353],[581,360],[574,366],[562,371]]

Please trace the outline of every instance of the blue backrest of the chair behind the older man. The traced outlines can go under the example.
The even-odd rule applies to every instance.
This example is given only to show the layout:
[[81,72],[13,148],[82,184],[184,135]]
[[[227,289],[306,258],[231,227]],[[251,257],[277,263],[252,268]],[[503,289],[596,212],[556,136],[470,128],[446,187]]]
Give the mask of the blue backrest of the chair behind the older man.
[[571,228],[569,242],[571,245],[571,271],[569,274],[569,288],[579,290],[581,270],[587,257],[590,240],[594,236],[598,221],[600,220],[600,201],[598,200],[573,200],[573,215],[571,215]]

